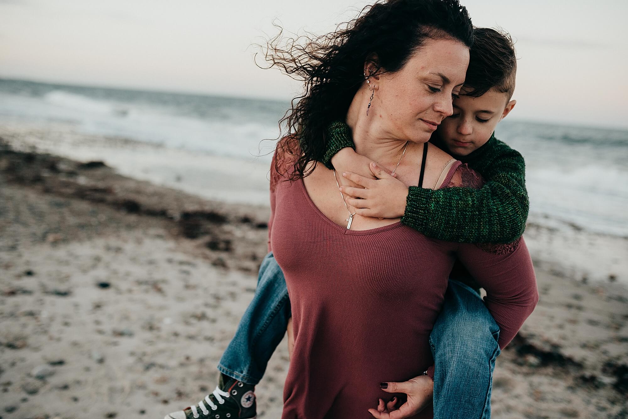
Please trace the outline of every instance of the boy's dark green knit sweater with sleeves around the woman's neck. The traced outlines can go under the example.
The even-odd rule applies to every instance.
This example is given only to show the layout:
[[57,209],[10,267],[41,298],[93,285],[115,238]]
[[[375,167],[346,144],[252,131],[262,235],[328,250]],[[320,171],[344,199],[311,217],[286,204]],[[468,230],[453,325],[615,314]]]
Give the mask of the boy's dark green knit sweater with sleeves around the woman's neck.
[[[448,152],[440,141],[432,142]],[[355,149],[349,126],[333,122],[327,129],[327,152],[321,162],[333,169],[332,157],[344,147]],[[482,174],[484,186],[436,191],[410,186],[401,223],[445,241],[510,243],[519,238],[529,210],[521,154],[493,133],[484,146],[460,160]]]

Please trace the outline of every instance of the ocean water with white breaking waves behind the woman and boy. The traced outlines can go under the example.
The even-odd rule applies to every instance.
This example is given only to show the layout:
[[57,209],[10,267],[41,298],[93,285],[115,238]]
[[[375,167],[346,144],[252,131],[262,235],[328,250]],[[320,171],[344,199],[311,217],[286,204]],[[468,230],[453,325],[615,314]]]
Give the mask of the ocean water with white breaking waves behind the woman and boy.
[[[78,132],[268,164],[290,102],[0,80],[0,124],[65,122]],[[506,119],[496,135],[526,159],[530,221],[628,237],[628,130]]]

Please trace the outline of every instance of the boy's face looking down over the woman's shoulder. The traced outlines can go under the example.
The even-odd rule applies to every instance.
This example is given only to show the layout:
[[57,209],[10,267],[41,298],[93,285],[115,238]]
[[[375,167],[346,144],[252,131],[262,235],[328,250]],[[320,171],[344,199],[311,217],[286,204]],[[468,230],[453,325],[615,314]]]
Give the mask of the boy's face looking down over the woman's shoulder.
[[438,135],[455,156],[467,156],[489,141],[497,122],[509,114],[516,100],[508,102],[507,93],[491,89],[480,97],[465,96],[453,100],[453,115],[438,127]]

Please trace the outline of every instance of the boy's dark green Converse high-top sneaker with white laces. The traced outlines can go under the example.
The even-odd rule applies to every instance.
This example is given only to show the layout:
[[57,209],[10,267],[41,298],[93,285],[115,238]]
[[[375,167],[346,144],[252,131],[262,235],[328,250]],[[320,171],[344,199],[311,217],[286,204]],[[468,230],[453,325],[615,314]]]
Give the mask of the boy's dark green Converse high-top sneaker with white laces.
[[198,405],[174,411],[164,419],[256,419],[255,386],[224,374],[216,389]]

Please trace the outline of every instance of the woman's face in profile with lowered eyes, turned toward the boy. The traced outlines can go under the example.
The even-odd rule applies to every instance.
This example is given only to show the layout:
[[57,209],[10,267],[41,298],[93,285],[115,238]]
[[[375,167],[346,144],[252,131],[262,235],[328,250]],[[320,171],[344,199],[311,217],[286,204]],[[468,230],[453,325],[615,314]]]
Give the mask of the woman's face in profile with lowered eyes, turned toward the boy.
[[371,78],[378,98],[373,116],[386,121],[393,138],[428,141],[453,114],[452,97],[460,92],[468,62],[469,50],[460,41],[427,40],[401,70]]

